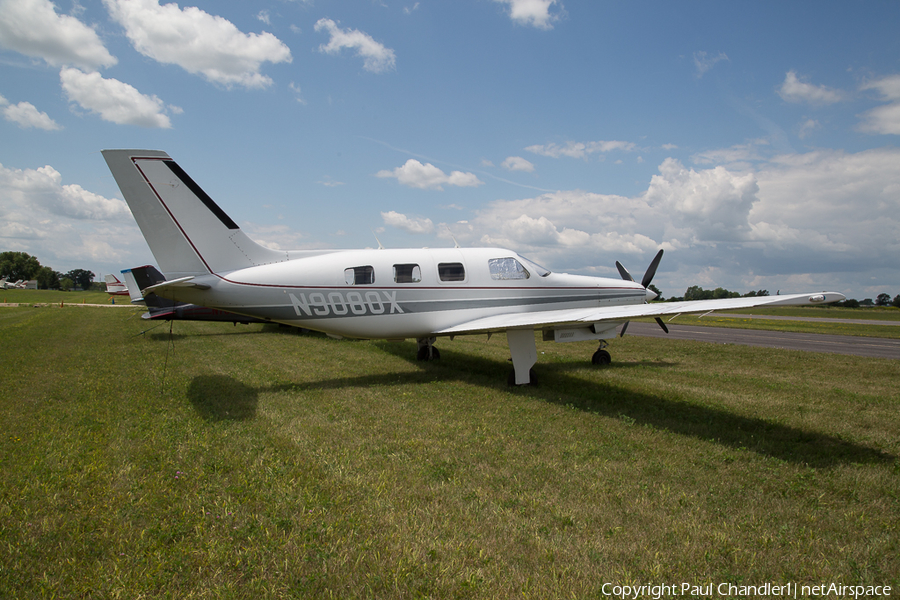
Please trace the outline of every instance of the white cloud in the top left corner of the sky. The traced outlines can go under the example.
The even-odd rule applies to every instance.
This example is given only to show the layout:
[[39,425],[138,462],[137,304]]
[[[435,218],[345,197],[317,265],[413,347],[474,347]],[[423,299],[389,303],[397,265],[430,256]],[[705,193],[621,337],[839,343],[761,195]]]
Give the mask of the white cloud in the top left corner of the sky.
[[57,67],[116,64],[93,28],[57,14],[50,0],[0,0],[0,46]]

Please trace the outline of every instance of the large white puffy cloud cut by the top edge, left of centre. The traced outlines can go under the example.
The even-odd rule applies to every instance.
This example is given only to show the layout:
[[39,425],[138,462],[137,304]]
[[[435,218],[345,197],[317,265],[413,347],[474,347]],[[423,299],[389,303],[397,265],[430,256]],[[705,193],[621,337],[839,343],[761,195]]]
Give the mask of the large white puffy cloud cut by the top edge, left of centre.
[[224,86],[264,88],[265,62],[291,62],[291,51],[271,33],[243,33],[231,21],[197,7],[160,6],[158,0],[104,0],[135,50]]

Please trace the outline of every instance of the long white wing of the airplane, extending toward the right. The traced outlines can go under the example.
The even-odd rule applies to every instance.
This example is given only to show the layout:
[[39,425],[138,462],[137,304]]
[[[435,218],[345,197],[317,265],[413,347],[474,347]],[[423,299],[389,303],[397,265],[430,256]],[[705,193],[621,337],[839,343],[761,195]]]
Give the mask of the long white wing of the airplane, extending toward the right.
[[754,296],[749,298],[722,298],[720,300],[688,300],[682,302],[657,302],[627,306],[574,308],[541,312],[505,313],[474,319],[434,332],[437,335],[488,333],[506,329],[559,329],[566,326],[585,327],[593,323],[625,322],[640,317],[662,317],[689,313],[706,313],[716,310],[753,308],[755,306],[805,306],[839,302],[843,294],[822,292],[791,294],[784,296]]

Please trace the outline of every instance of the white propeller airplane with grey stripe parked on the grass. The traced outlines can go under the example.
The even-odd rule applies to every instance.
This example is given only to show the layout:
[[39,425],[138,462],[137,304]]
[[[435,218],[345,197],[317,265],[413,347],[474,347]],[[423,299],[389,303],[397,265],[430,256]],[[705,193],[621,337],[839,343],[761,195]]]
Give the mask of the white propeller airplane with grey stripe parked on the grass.
[[122,195],[166,281],[158,296],[332,336],[418,341],[439,357],[437,337],[506,332],[510,383],[535,382],[535,330],[544,340],[595,340],[592,362],[610,362],[607,338],[630,319],[753,306],[823,304],[835,292],[649,304],[643,280],[551,273],[503,248],[282,251],[240,227],[165,152],[104,150]]

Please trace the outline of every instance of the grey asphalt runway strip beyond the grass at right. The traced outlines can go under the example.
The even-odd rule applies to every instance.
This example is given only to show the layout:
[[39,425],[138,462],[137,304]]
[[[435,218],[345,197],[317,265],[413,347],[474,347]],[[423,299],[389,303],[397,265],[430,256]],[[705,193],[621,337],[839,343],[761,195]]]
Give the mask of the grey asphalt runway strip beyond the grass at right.
[[787,331],[759,331],[755,329],[730,329],[726,327],[695,327],[667,324],[666,334],[656,323],[628,325],[625,335],[662,337],[672,340],[697,340],[711,344],[739,344],[763,348],[784,348],[807,352],[850,354],[869,358],[900,359],[900,340],[829,335],[824,333],[793,333]]

